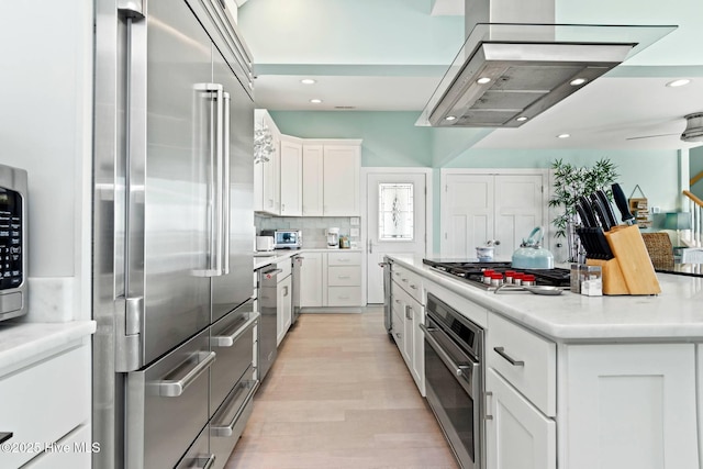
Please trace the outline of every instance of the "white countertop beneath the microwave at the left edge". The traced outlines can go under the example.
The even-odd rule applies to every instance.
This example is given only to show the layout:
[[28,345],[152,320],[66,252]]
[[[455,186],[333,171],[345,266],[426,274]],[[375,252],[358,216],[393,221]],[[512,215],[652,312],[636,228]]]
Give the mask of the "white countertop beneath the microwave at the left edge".
[[0,376],[88,340],[94,321],[0,323]]

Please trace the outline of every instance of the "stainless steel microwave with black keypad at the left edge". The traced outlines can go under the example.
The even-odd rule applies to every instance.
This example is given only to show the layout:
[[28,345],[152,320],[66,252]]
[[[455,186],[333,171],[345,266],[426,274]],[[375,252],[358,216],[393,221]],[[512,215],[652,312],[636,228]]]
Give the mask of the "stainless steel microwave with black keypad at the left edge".
[[27,182],[24,169],[0,165],[0,321],[27,310]]

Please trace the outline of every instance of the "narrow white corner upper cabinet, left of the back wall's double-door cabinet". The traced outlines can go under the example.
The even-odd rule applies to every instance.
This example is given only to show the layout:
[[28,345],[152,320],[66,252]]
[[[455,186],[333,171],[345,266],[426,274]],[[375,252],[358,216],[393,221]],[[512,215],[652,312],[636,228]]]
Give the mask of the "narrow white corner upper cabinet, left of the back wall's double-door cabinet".
[[303,214],[303,146],[298,138],[282,135],[280,147],[280,214],[300,216]]

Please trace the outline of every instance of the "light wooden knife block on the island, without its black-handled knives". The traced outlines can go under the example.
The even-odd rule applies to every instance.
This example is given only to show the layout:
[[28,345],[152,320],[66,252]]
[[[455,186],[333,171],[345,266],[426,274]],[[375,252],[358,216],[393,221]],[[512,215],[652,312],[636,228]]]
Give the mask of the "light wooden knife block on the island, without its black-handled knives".
[[588,265],[601,266],[603,294],[661,293],[657,273],[651,265],[639,227],[615,226],[605,233],[613,259],[587,259]]

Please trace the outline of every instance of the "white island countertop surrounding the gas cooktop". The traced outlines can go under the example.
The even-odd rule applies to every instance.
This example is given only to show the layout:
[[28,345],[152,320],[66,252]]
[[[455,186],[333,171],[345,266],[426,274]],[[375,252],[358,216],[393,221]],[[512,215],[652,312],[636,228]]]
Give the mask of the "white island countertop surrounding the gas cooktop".
[[399,264],[482,306],[560,342],[703,340],[703,278],[657,273],[661,293],[647,297],[585,297],[565,291],[547,297],[493,293],[422,264]]

